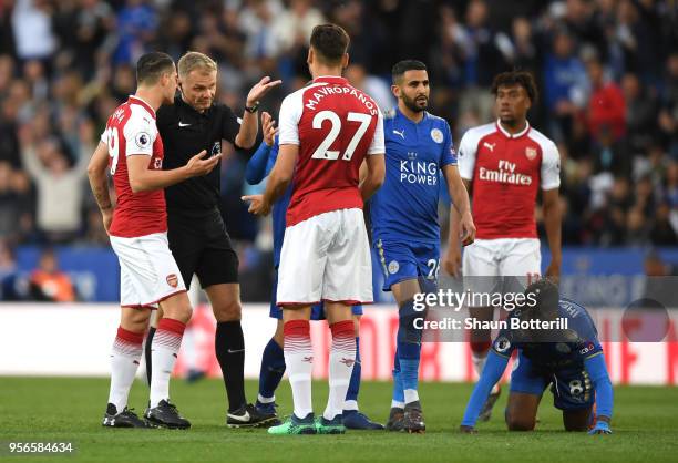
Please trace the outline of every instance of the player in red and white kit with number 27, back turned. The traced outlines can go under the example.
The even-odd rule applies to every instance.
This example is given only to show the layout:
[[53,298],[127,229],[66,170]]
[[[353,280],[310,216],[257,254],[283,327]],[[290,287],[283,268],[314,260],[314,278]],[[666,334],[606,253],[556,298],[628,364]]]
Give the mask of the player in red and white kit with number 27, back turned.
[[[349,38],[335,24],[310,38],[314,81],[280,107],[276,165],[250,210],[268,214],[294,175],[280,254],[277,301],[285,310],[285,363],[292,388],[291,419],[271,434],[342,433],[343,400],[356,359],[351,306],[372,302],[372,269],[363,202],[383,183],[383,120],[377,103],[341,78]],[[368,174],[359,185],[359,169]],[[295,172],[296,169],[296,172]],[[315,423],[311,407],[310,308],[325,302],[332,332],[329,399]]]

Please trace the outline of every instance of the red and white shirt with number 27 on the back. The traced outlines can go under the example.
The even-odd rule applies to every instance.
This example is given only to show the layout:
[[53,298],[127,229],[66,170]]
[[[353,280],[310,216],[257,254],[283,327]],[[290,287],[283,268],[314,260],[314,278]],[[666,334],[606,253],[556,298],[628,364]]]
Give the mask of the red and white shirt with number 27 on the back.
[[330,210],[362,208],[359,169],[384,153],[377,103],[340,76],[321,76],[280,106],[279,144],[299,145],[287,227]]

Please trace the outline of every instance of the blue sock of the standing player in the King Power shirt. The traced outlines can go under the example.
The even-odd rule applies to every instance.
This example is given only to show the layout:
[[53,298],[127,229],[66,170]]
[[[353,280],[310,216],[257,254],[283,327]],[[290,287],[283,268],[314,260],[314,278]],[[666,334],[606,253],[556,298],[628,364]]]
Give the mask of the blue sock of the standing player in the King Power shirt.
[[414,301],[405,301],[399,310],[398,360],[400,380],[404,392],[404,402],[419,400],[419,360],[421,358],[422,329],[420,322],[425,318],[424,311],[414,310]]

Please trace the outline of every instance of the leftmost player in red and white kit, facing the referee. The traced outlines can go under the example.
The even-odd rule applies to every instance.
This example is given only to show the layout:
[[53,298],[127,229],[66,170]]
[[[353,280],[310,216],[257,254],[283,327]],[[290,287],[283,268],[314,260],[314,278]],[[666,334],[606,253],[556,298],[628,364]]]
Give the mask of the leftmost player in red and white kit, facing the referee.
[[[191,423],[170,402],[170,374],[192,308],[167,245],[163,188],[207,174],[218,156],[203,160],[203,151],[185,166],[163,171],[163,141],[155,125],[155,111],[174,100],[177,80],[172,58],[158,52],[143,55],[136,64],[136,94],[109,117],[88,168],[92,193],[121,267],[122,317],[111,354],[111,391],[103,425],[186,429]],[[109,166],[117,196],[115,207],[109,197]],[[150,407],[142,420],[127,409],[127,395],[141,360],[151,309],[158,305],[164,317],[153,338]]]

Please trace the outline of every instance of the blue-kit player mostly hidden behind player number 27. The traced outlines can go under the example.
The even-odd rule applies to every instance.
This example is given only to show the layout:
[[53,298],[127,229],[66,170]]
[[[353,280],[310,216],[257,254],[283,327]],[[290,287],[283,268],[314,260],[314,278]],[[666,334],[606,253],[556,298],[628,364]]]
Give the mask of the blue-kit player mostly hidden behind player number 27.
[[[261,114],[261,126],[264,141],[247,163],[245,178],[250,185],[260,183],[273,169],[278,156],[277,128],[268,113]],[[274,268],[278,271],[280,264],[280,249],[285,238],[285,215],[291,197],[292,186],[290,185],[285,194],[276,202],[273,208],[273,232],[274,232]],[[276,289],[278,278],[274,280],[274,289],[270,301],[270,317],[278,319],[278,325],[274,337],[268,341],[261,358],[261,370],[259,373],[259,393],[256,408],[259,412],[276,414],[275,391],[280,384],[285,373],[285,356],[282,352],[282,310],[276,305]],[[362,306],[353,306],[353,323],[356,326],[356,364],[351,373],[349,389],[346,394],[343,410],[343,425],[352,430],[382,430],[383,425],[372,422],[368,416],[358,410],[358,392],[360,389],[360,350],[359,350],[359,325],[362,316]],[[311,308],[311,320],[325,320],[323,305],[318,303]],[[279,424],[279,422],[274,423]]]

